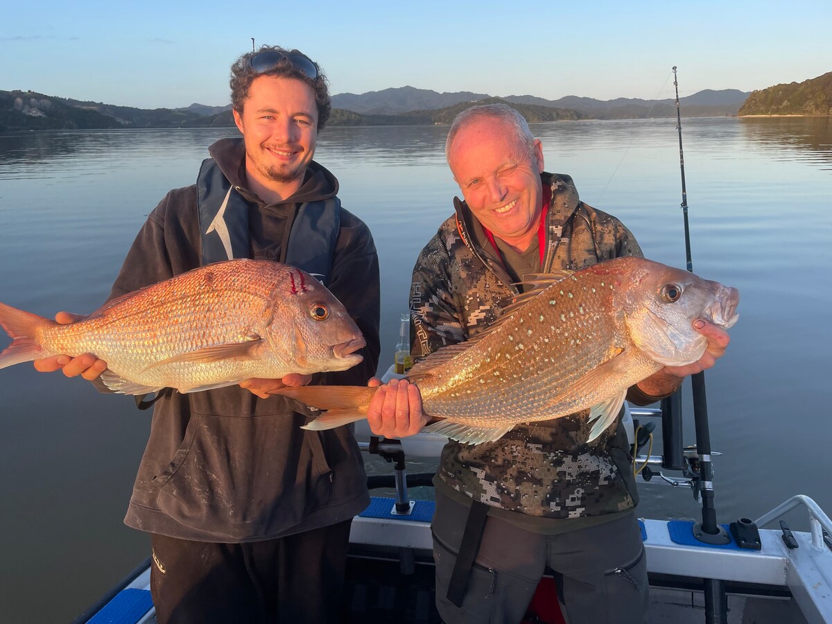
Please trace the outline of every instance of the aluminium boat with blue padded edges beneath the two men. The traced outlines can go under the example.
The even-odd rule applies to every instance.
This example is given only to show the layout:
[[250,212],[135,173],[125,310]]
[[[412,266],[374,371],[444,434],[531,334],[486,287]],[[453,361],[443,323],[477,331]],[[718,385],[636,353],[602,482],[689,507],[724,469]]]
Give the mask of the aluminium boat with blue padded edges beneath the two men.
[[[654,432],[659,426],[666,442],[676,438],[661,455],[636,455],[642,481],[698,492],[701,463],[696,448],[680,447],[671,401],[661,409],[628,406],[627,412],[638,450],[655,434],[638,439],[638,429]],[[433,474],[408,474],[407,462],[438,457],[447,440],[435,433],[386,440],[373,436],[366,421],[356,437],[362,451],[393,465],[393,474],[369,477],[371,493],[393,488],[394,495],[373,496],[354,518],[343,622],[441,622],[434,607],[433,501],[409,497],[409,488],[429,486]],[[679,465],[673,465],[676,457]],[[809,531],[792,531],[782,519],[795,510],[808,520]],[[796,494],[760,518],[737,518],[721,527],[724,543],[709,543],[697,522],[640,518],[639,524],[651,586],[648,622],[832,623],[832,521],[811,498]],[[150,565],[148,558],[73,624],[156,622]],[[530,609],[524,622],[563,622],[551,574],[543,577]]]

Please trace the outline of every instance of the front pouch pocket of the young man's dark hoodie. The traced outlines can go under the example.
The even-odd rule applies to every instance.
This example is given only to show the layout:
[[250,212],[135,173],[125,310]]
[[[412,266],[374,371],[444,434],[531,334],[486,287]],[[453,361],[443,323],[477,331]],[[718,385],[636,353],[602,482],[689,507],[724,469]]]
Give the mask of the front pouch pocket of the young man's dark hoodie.
[[295,419],[194,414],[166,470],[161,511],[233,540],[298,524],[329,499],[332,471],[319,433]]

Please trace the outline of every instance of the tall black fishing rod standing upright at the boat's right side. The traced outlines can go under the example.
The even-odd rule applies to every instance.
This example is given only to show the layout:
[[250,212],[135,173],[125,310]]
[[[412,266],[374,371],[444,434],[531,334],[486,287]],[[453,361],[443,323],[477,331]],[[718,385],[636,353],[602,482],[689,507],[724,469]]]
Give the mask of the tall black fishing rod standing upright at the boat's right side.
[[[685,152],[681,146],[681,106],[679,105],[679,82],[676,80],[676,66],[673,67],[673,87],[676,87],[676,129],[679,131],[679,165],[681,168],[681,209],[685,220],[685,250],[687,270],[693,272],[691,260],[691,229],[687,219],[687,189],[685,187]],[[677,390],[676,392],[680,392]],[[693,394],[693,419],[696,426],[696,454],[699,463],[699,493],[702,497],[702,521],[693,525],[693,535],[700,542],[727,544],[730,537],[725,528],[716,523],[714,507],[714,468],[711,464],[711,431],[708,426],[708,405],[705,392],[705,372],[691,375]],[[728,605],[725,585],[719,579],[706,578],[705,620],[707,624],[726,622]]]

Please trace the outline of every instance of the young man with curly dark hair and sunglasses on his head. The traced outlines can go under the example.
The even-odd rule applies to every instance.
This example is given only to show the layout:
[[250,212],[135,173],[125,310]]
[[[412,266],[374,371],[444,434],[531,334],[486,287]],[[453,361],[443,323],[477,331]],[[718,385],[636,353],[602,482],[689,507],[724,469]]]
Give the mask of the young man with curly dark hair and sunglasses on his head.
[[[323,624],[338,617],[349,525],[369,503],[364,467],[350,428],[305,431],[305,415],[270,391],[367,383],[379,359],[379,261],[367,226],[340,207],[338,181],[312,160],[330,109],[318,65],[262,47],[231,74],[243,137],[210,146],[196,184],[151,212],[111,298],[230,256],[288,262],[349,310],[364,361],[161,393],[125,522],[151,533],[158,622]],[[92,380],[106,362],[61,355],[36,366]]]

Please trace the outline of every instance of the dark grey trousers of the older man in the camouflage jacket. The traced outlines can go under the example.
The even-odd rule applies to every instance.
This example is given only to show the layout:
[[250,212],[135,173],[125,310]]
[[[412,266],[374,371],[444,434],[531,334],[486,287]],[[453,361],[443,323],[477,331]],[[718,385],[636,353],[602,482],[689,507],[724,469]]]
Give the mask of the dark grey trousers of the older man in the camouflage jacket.
[[468,508],[437,493],[433,516],[436,604],[446,624],[518,624],[544,572],[554,572],[569,624],[643,624],[647,565],[635,512],[559,535],[489,517],[462,607],[447,598]]

